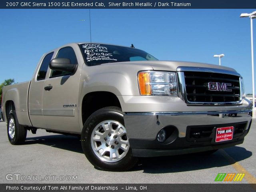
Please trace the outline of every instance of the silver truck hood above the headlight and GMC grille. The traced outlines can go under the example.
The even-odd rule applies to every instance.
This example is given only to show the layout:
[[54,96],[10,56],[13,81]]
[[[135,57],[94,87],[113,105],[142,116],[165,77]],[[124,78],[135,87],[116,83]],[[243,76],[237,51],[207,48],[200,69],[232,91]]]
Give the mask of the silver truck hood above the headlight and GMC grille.
[[214,68],[214,69],[222,69],[222,70],[229,70],[234,71],[233,68],[219,66],[214,64],[206,64],[206,63],[197,63],[197,62],[182,62],[182,61],[132,61],[132,62],[118,62],[118,63],[108,63],[104,65],[117,65],[120,67],[121,64],[127,64],[131,67],[136,65],[141,66],[149,66],[152,67],[153,70],[164,70],[164,71],[176,71],[178,67],[186,66],[186,67],[204,67],[204,68]]

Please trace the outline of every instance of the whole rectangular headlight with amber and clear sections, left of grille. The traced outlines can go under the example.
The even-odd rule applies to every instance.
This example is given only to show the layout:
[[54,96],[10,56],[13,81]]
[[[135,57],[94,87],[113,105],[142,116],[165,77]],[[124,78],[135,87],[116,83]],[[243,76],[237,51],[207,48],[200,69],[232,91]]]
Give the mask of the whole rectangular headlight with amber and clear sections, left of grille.
[[175,72],[139,72],[138,83],[141,95],[178,96]]

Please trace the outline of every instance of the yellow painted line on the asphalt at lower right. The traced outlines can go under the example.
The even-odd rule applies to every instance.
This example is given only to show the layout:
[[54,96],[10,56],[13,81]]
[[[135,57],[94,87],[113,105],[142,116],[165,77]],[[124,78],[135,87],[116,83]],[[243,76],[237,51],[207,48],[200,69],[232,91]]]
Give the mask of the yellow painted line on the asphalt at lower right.
[[256,184],[256,178],[252,174],[250,174],[242,165],[240,165],[231,156],[229,156],[229,154],[225,150],[220,149],[219,151],[222,154],[222,156],[224,156],[224,158],[226,158],[226,160],[228,160],[228,162],[230,162],[230,164],[232,164],[232,166],[238,171],[238,173],[244,173],[245,174],[244,179],[248,183]]

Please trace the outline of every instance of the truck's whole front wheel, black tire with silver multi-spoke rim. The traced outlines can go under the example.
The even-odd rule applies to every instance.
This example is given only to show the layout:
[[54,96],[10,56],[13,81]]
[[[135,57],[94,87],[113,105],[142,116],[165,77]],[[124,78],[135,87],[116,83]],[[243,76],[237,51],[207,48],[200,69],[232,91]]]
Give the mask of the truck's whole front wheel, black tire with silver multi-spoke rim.
[[84,124],[81,142],[88,160],[100,170],[125,171],[137,163],[120,108],[106,107],[94,112]]

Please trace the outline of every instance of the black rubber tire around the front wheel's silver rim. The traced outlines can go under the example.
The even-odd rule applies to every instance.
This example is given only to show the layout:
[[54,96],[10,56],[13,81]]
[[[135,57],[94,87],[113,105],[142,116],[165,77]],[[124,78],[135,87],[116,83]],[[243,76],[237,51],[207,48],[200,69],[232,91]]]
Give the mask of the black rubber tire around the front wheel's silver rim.
[[[118,107],[106,107],[94,112],[85,122],[82,129],[81,144],[86,158],[95,168],[105,171],[126,171],[131,169],[138,162],[138,158],[132,156],[132,150],[129,148],[126,155],[116,162],[106,162],[98,157],[91,144],[91,136],[94,128],[104,121],[116,121],[124,125],[124,113]],[[128,138],[127,138],[128,141]],[[106,144],[105,144],[106,145]]]

